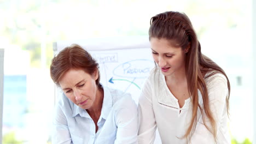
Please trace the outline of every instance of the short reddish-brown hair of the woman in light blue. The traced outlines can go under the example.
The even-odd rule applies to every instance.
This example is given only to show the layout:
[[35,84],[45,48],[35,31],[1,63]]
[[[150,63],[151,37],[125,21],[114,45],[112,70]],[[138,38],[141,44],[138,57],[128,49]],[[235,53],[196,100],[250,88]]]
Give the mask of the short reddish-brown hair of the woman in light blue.
[[66,47],[53,58],[50,66],[51,79],[59,86],[60,79],[70,69],[82,69],[90,75],[97,70],[98,79],[96,80],[96,85],[101,87],[98,63],[89,52],[77,44]]

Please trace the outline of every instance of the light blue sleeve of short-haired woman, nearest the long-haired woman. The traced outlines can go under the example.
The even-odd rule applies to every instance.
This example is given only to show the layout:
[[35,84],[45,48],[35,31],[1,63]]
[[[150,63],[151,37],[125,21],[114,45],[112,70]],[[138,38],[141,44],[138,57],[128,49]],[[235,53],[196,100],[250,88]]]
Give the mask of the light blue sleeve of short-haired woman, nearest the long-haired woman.
[[117,139],[115,144],[137,143],[138,131],[138,110],[135,101],[131,95],[125,97],[119,103],[118,110],[115,113],[115,123],[117,124]]

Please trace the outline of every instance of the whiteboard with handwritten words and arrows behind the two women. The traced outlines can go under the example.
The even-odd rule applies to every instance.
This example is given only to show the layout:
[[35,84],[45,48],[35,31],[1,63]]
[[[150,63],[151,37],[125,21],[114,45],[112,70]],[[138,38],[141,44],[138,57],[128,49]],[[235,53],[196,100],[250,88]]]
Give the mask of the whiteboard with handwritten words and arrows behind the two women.
[[[155,67],[148,36],[57,41],[53,44],[54,55],[71,44],[82,46],[96,59],[103,86],[130,93],[138,104],[143,83]],[[61,93],[56,87],[55,100]],[[158,131],[155,143],[161,143]]]

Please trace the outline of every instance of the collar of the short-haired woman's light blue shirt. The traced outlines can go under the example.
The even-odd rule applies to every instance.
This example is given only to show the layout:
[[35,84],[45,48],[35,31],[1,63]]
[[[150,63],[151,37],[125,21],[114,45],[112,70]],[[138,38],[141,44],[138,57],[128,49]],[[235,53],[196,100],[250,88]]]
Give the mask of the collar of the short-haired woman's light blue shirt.
[[[103,104],[102,104],[102,109],[101,109],[101,116],[102,116],[102,118],[107,119],[108,113],[112,109],[112,95],[107,87],[104,87],[104,86],[102,86],[102,87],[103,87],[103,92],[104,92],[104,98],[103,98]],[[72,117],[75,117],[78,114],[80,116],[90,118],[87,111],[85,111],[78,105],[74,104]]]

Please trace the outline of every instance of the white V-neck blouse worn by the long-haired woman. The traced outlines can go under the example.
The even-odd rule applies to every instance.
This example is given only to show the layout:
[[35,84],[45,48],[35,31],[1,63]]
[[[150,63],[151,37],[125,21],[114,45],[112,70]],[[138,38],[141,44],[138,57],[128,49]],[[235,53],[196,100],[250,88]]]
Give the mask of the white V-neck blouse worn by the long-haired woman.
[[[209,75],[210,73],[207,73]],[[231,143],[228,130],[228,114],[226,111],[227,81],[224,75],[214,74],[205,79],[210,109],[217,124],[217,140],[205,127],[200,110],[190,143]],[[202,97],[199,91],[199,104]],[[159,130],[162,143],[189,143],[184,135],[191,122],[192,104],[190,98],[179,108],[178,99],[166,85],[165,76],[155,68],[150,73],[142,89],[138,104],[138,143],[154,143],[156,128]],[[208,127],[211,123],[205,116]]]

